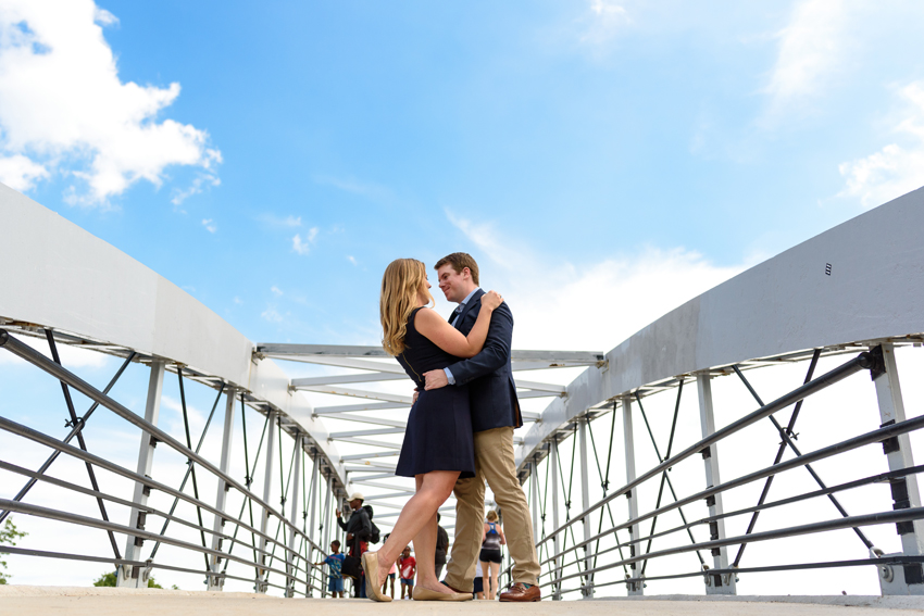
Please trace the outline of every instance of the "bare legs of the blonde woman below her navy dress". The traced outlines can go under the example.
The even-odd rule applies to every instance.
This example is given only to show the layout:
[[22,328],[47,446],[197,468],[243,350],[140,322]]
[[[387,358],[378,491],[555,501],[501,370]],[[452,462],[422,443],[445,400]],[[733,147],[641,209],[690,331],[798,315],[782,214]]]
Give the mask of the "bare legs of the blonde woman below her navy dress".
[[[436,510],[438,510],[452,493],[452,487],[455,486],[455,480],[458,478],[458,470],[434,470],[426,475],[417,475],[415,477],[417,492],[411,496],[411,500],[408,501],[408,504],[405,504],[404,508],[401,510],[401,515],[398,516],[398,521],[395,523],[395,528],[388,536],[388,540],[377,553],[378,583],[385,581],[391,565],[398,560],[398,555],[411,543],[412,540],[415,540],[414,548],[415,550],[419,550],[416,546],[416,536],[424,526],[427,526],[430,523],[433,523],[433,552],[436,552]],[[424,543],[426,543],[425,538]],[[428,558],[430,575],[433,575],[434,566],[433,556],[434,554],[430,554]],[[421,568],[422,563],[425,562],[426,560],[419,552],[419,569]],[[433,577],[435,578],[436,576]],[[437,592],[446,592],[446,590],[448,590],[447,587],[444,587],[442,584],[438,586],[439,588],[430,588],[430,590],[436,590]],[[424,588],[429,587],[425,586]]]

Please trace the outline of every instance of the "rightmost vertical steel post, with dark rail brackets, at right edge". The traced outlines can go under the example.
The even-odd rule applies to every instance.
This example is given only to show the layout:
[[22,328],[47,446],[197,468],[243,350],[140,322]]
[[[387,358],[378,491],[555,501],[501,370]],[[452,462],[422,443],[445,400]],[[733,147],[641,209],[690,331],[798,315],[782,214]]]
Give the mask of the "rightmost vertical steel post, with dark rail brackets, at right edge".
[[[879,406],[879,419],[883,426],[904,422],[904,401],[901,395],[901,382],[898,379],[898,364],[895,345],[882,344],[883,372],[873,373],[876,386],[876,401]],[[877,349],[873,349],[878,354]],[[900,435],[883,442],[889,470],[901,470],[914,466],[909,435]],[[917,476],[908,475],[889,482],[892,508],[903,510],[921,506],[921,492]],[[903,521],[896,525],[901,538],[901,553],[906,555],[924,554],[924,520]],[[924,594],[924,575],[920,564],[884,567],[879,569],[879,586],[883,594]]]

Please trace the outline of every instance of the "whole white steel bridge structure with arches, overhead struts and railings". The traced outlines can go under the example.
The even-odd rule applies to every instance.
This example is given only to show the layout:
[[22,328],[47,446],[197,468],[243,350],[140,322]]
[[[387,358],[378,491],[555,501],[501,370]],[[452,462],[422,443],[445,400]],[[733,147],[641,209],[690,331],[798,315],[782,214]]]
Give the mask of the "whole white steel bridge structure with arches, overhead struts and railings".
[[[161,567],[204,575],[212,589],[240,580],[253,582],[258,591],[277,588],[292,596],[325,592],[323,571],[312,563],[339,536],[332,512],[348,493],[362,490],[387,532],[412,493],[410,483],[394,477],[411,391],[400,366],[380,348],[252,343],[175,285],[3,186],[0,217],[15,230],[0,242],[5,265],[0,352],[12,352],[60,381],[70,416],[66,436],[58,438],[0,414],[0,429],[52,451],[38,469],[0,454],[7,486],[0,494],[0,512],[5,513],[0,515],[12,512],[96,529],[112,553],[28,546],[0,551],[113,563],[122,586],[143,586]],[[924,427],[924,418],[906,412],[896,359],[896,349],[924,342],[921,228],[924,189],[752,267],[608,353],[514,351],[520,398],[548,401],[541,413],[524,412],[527,426],[515,443],[533,507],[544,594],[589,598],[605,587],[642,594],[649,581],[685,577],[701,578],[708,593],[732,594],[742,573],[846,566],[875,567],[883,593],[924,594],[921,467],[914,464],[909,437]],[[93,386],[62,365],[60,344],[115,355],[123,365],[108,385]],[[290,379],[277,365],[280,361],[311,364],[316,372]],[[129,365],[149,373],[143,415],[109,397]],[[804,366],[802,381],[764,400],[762,386],[750,375],[792,365]],[[560,368],[580,372],[560,385],[548,376]],[[876,418],[873,429],[802,451],[795,430],[803,402],[811,404],[811,397],[856,379],[858,373],[874,377],[870,388],[878,410],[871,415]],[[179,387],[184,433],[159,427],[167,376]],[[749,406],[729,415],[713,401],[713,384],[732,380],[750,398]],[[215,395],[197,439],[187,420],[187,387]],[[88,412],[78,414],[72,392],[92,401]],[[313,405],[302,392],[345,403]],[[697,433],[677,428],[690,397]],[[666,412],[649,413],[651,405]],[[221,406],[224,412],[216,414]],[[92,430],[90,415],[102,412],[98,408],[140,430],[135,469],[87,450],[83,432],[88,424]],[[727,422],[717,425],[720,414]],[[208,458],[200,449],[213,418],[215,429],[223,425],[221,448]],[[773,464],[748,473],[727,463],[720,466],[719,444],[761,423],[772,423],[778,438]],[[650,440],[647,458],[637,453],[637,440]],[[865,477],[828,485],[812,466],[879,444],[883,468]],[[186,463],[178,488],[159,480],[157,460],[164,449]],[[55,478],[49,468],[59,456],[84,463],[91,487]],[[639,465],[642,460],[647,467]],[[702,462],[699,486],[671,473],[697,460]],[[241,461],[244,475],[232,475]],[[814,488],[772,500],[774,478],[783,480],[797,468],[808,470]],[[110,493],[103,476],[118,476],[133,488]],[[14,477],[17,483],[11,488]],[[37,482],[68,499],[80,494],[98,505],[99,516],[29,502]],[[874,485],[888,485],[891,499],[859,514],[839,500],[841,492]],[[723,498],[734,499],[735,490],[747,486],[763,486],[757,505],[724,505]],[[164,499],[173,501],[168,512],[161,506]],[[829,501],[826,506],[836,516],[758,529],[762,512],[821,502],[814,499]],[[617,507],[617,502],[627,506]],[[186,507],[185,517],[177,503]],[[115,511],[124,517],[109,515]],[[451,519],[452,503],[441,512]],[[670,517],[674,514],[679,518]],[[659,516],[673,519],[673,526],[657,528]],[[746,531],[726,531],[726,524],[741,519],[749,520]],[[891,554],[864,530],[888,524],[896,525],[900,539]],[[451,529],[452,524],[445,526]],[[182,532],[174,530],[179,528]],[[750,544],[837,530],[857,536],[857,556],[742,564]],[[162,543],[175,549],[171,557],[158,556]],[[201,553],[204,566],[175,558],[176,550]],[[694,569],[673,565],[679,554],[696,555],[697,562],[687,561]]]

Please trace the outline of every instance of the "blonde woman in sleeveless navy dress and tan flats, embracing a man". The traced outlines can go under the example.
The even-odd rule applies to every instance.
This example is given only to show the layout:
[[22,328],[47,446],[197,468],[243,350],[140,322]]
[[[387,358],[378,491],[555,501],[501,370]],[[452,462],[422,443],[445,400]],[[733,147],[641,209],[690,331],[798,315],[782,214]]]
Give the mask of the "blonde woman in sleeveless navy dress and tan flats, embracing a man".
[[474,477],[475,453],[469,390],[445,387],[424,390],[423,374],[442,369],[482,350],[491,313],[503,301],[490,291],[482,298],[482,312],[469,336],[463,336],[430,310],[426,266],[414,259],[398,259],[382,278],[379,312],[383,347],[394,355],[420,392],[404,431],[404,442],[395,472],[413,477],[416,493],[408,501],[388,540],[378,552],[363,554],[366,595],[373,601],[391,601],[380,592],[388,569],[411,540],[417,555],[416,601],[466,601],[471,593],[453,592],[436,577],[436,512],[452,493],[455,480]]

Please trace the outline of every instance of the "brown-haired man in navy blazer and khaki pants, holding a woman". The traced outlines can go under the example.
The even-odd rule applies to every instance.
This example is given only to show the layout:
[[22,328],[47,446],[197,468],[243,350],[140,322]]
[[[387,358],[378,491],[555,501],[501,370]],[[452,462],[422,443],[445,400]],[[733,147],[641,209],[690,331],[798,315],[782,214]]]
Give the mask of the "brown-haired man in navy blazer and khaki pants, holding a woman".
[[[439,288],[459,307],[449,323],[469,335],[482,307],[478,264],[470,254],[454,252],[437,262]],[[513,558],[513,586],[500,601],[539,601],[539,558],[533,540],[533,520],[526,495],[516,478],[513,430],[523,425],[516,385],[510,365],[513,314],[507,303],[494,311],[480,353],[444,370],[424,374],[426,389],[469,386],[472,431],[475,438],[475,477],[455,482],[455,540],[446,569],[446,583],[457,592],[472,592],[485,521],[485,480],[503,513],[503,529]]]

